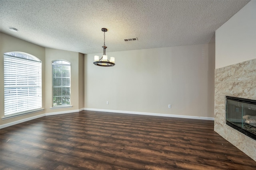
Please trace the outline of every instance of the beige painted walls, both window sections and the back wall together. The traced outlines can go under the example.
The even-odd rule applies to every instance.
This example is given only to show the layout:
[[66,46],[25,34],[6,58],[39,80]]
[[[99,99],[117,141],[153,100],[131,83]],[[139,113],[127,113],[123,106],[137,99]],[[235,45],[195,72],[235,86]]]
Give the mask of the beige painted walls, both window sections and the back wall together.
[[[94,108],[146,113],[213,117],[214,44],[108,53],[116,66],[102,68],[94,54],[50,49],[1,33],[1,117],[4,117],[3,53],[23,51],[42,61],[44,111],[2,120],[1,125],[40,114]],[[101,55],[101,54],[98,54]],[[71,63],[72,108],[52,106],[52,61]],[[102,83],[102,81],[104,83]],[[107,90],[102,90],[107,89]],[[106,105],[109,101],[109,105]],[[168,108],[168,104],[172,108]]]

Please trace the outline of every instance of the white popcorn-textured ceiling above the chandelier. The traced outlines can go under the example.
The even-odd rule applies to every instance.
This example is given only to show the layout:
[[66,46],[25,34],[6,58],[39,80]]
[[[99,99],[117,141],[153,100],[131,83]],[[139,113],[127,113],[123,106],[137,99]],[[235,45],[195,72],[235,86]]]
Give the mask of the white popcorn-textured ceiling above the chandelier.
[[[101,53],[213,42],[248,0],[0,0],[0,31],[43,47]],[[9,31],[15,27],[17,33]],[[138,41],[124,39],[138,38]]]

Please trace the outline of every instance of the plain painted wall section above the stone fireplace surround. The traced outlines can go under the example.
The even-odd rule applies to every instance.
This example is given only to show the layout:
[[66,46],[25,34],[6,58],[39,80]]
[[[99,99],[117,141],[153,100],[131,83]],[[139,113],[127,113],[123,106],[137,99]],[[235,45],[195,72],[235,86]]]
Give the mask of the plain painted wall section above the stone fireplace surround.
[[256,58],[256,1],[216,30],[216,68]]

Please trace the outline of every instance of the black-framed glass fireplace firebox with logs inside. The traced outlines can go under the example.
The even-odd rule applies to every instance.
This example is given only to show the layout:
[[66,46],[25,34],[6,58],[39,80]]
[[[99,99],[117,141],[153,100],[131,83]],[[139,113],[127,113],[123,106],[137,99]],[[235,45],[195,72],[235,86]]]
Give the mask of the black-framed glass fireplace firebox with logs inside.
[[256,100],[226,96],[226,125],[256,140]]

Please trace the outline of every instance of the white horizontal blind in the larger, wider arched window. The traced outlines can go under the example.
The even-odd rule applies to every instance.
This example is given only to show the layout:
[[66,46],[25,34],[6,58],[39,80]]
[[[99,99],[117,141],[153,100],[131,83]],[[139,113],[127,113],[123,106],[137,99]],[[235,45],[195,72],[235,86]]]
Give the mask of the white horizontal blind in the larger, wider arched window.
[[20,52],[4,53],[4,115],[42,109],[42,63]]

